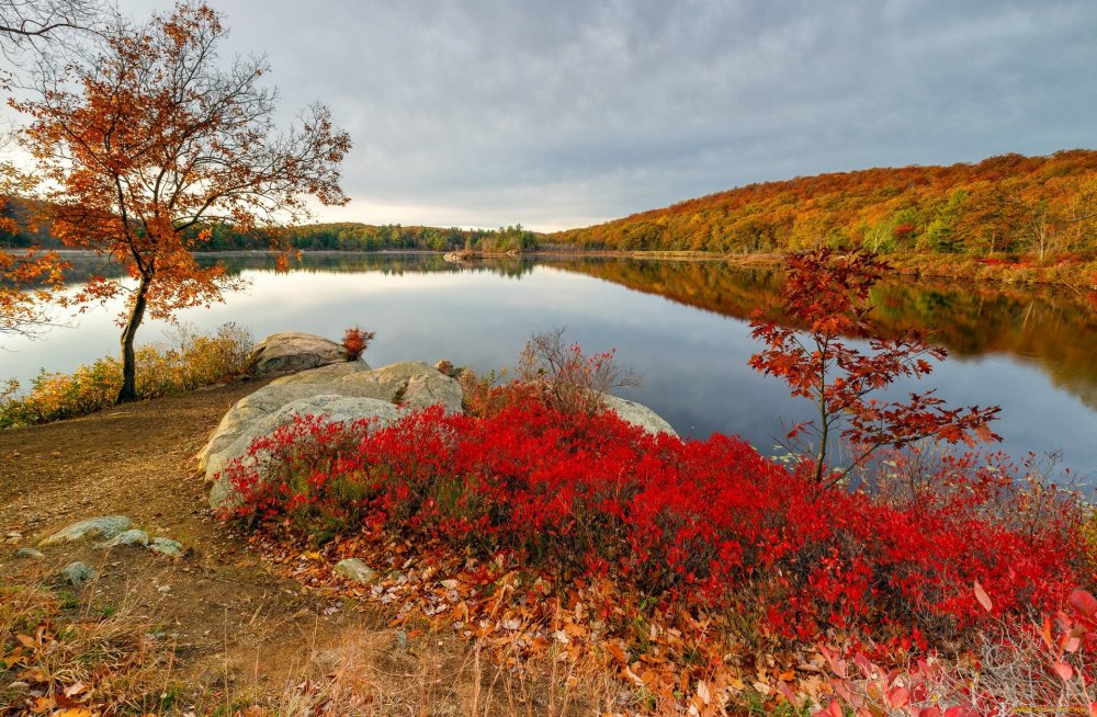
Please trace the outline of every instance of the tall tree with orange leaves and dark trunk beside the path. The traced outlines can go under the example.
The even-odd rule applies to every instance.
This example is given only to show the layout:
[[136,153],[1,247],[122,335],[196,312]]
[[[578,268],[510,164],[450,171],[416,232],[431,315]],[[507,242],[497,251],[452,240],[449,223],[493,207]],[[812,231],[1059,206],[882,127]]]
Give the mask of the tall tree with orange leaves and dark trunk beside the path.
[[128,295],[118,402],[137,398],[134,339],[146,315],[206,306],[236,286],[222,265],[195,261],[211,232],[189,229],[299,221],[309,216],[305,195],[348,201],[339,186],[347,133],[320,104],[275,132],[276,93],[259,86],[269,66],[237,58],[220,69],[226,33],[205,4],[179,4],[144,26],[118,19],[101,49],[42,80],[42,99],[15,104],[32,117],[24,146],[56,186],[55,235],[124,263],[133,280],[93,281],[82,297]]

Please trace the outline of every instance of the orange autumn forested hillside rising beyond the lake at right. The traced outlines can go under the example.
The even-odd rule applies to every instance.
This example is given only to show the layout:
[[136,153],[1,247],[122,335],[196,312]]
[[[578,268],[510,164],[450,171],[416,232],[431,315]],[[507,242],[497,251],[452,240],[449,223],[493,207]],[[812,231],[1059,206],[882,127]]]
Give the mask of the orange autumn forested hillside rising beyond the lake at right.
[[1004,155],[767,182],[550,235],[584,249],[779,252],[1097,252],[1097,151]]

